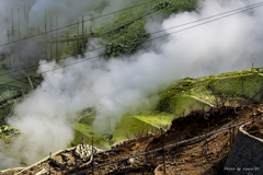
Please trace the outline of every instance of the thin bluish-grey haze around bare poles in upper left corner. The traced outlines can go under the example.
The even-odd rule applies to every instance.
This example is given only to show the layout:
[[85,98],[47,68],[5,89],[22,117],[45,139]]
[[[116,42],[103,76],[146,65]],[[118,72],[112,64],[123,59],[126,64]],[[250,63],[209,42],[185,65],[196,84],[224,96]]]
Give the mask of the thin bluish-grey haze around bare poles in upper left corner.
[[[82,15],[84,16],[84,32],[100,25],[102,22],[108,21],[113,15],[105,15],[93,21],[89,19],[98,18],[102,14],[110,13],[112,11],[118,11],[127,5],[132,5],[134,1],[122,1],[122,0],[1,0],[0,1],[0,44],[7,44],[11,40],[22,42],[8,44],[5,47],[1,47],[0,51],[9,57],[8,67],[11,69],[26,68],[37,65],[37,62],[46,57],[43,55],[44,38],[55,37],[56,32],[49,32],[57,27],[56,16],[58,18],[58,35],[65,36],[64,32],[77,30],[77,22],[81,25]],[[46,11],[46,19],[45,19]],[[50,23],[53,27],[50,27]],[[70,27],[66,27],[70,25]],[[70,28],[70,30],[69,30]],[[80,27],[81,30],[81,27]],[[9,32],[8,32],[9,31]],[[48,32],[46,35],[41,35],[44,32]],[[9,33],[9,37],[7,36]],[[77,32],[76,32],[77,33]],[[70,35],[76,35],[71,33]],[[39,35],[39,36],[37,36]],[[19,37],[20,36],[20,37]],[[16,48],[15,51],[11,50]],[[55,47],[55,45],[54,45]],[[62,47],[59,44],[59,47]],[[19,48],[19,49],[18,49]],[[49,51],[46,48],[46,50]],[[50,52],[47,52],[48,57]],[[52,57],[52,56],[50,56]],[[35,71],[36,68],[27,69],[27,72]],[[12,73],[9,75],[14,77],[21,72]]]

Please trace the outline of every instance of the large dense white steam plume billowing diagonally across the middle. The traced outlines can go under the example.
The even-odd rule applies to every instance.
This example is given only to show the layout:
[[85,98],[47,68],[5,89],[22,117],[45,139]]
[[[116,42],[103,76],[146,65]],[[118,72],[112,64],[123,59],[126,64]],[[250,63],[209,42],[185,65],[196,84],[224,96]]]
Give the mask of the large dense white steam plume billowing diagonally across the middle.
[[[158,23],[157,31],[168,28],[249,4],[241,0],[221,2],[204,1],[197,12],[173,14],[163,22],[151,20],[146,28]],[[155,40],[130,57],[110,61],[94,58],[44,73],[42,85],[15,107],[9,120],[25,133],[22,145],[30,154],[25,156],[34,161],[38,153],[47,155],[69,144],[73,130],[68,112],[96,106],[95,132],[112,132],[125,114],[151,107],[158,97],[149,98],[150,94],[176,79],[248,69],[252,61],[262,66],[262,20],[263,11],[258,8]],[[42,65],[39,72],[58,67],[54,62]],[[19,142],[16,145],[21,147]]]

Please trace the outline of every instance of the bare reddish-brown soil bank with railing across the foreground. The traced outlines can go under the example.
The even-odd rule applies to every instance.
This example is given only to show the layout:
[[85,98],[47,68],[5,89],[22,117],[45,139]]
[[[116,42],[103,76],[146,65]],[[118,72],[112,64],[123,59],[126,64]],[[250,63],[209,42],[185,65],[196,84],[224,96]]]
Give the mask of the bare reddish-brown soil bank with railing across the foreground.
[[[113,161],[122,160],[132,155],[144,153],[146,150],[155,150],[163,145],[176,143],[179,141],[194,138],[210,131],[222,129],[236,124],[248,122],[253,118],[261,118],[259,110],[263,109],[263,104],[252,104],[250,106],[220,107],[205,110],[194,110],[190,115],[174,119],[168,131],[160,133],[149,133],[142,138],[127,140],[116,144],[116,150],[107,153],[101,153],[94,158],[94,167],[107,164]],[[253,116],[255,114],[255,116]],[[259,120],[263,124],[262,120]],[[256,122],[258,124],[258,122]],[[254,125],[254,124],[253,124]],[[261,126],[262,127],[262,126]],[[249,127],[250,129],[253,127]],[[214,133],[206,139],[197,139],[178,147],[165,149],[163,152],[153,152],[149,155],[134,158],[130,165],[113,163],[102,166],[100,171],[94,170],[94,174],[163,174],[163,155],[165,156],[167,174],[224,174],[222,167],[231,148],[230,133],[233,130],[224,130]],[[237,133],[237,129],[235,135]],[[43,168],[49,170],[54,174],[73,174],[82,171],[82,174],[91,174],[91,164],[83,166],[87,161],[79,160],[72,151],[64,152],[70,161],[65,163],[60,154],[55,155],[57,162],[65,163],[65,166],[58,167],[47,160],[22,174],[36,174]],[[148,164],[146,160],[155,162]],[[125,162],[124,162],[125,163]],[[159,165],[159,166],[158,166]],[[126,170],[121,171],[121,166]],[[156,168],[158,167],[158,168]],[[1,173],[0,173],[1,174]],[[2,173],[3,174],[3,173]],[[12,172],[4,173],[11,175]]]

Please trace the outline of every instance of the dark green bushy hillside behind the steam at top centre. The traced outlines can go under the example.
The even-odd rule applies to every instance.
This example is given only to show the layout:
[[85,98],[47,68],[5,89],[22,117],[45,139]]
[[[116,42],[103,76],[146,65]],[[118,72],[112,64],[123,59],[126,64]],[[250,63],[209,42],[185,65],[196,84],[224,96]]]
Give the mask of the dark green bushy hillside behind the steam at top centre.
[[[148,2],[148,0],[141,0],[134,5],[144,2]],[[141,43],[149,38],[150,35],[145,31],[145,24],[148,19],[155,14],[169,16],[180,11],[192,11],[195,9],[196,2],[197,0],[164,0],[138,5],[117,13],[112,21],[102,23],[98,27],[92,26],[92,34],[85,34],[85,37],[103,38],[105,40],[103,45],[106,47],[104,52],[106,58],[129,55],[133,54]],[[98,8],[104,5],[105,4],[102,4]],[[92,24],[94,22],[92,22]],[[80,36],[80,45],[82,45],[81,37],[82,34]],[[77,54],[75,42],[70,47],[66,47],[64,52],[75,56]]]

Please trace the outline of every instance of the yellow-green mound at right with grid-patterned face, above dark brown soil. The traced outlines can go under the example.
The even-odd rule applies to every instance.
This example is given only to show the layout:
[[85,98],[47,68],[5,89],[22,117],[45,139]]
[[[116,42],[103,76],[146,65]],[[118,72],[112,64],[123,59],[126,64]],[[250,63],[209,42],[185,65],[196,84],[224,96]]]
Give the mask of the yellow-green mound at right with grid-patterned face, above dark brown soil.
[[209,106],[218,106],[219,103],[238,105],[237,102],[247,100],[260,101],[262,86],[262,71],[250,69],[198,79],[185,78],[160,92],[158,109],[183,116],[192,109],[207,109]]

